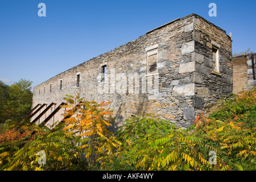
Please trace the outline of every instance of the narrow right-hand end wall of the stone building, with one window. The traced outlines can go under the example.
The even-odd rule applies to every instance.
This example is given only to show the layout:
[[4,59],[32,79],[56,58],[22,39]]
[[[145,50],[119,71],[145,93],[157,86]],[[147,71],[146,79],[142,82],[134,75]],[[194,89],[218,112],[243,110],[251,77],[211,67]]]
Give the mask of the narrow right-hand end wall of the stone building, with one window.
[[[205,113],[205,108],[233,91],[232,40],[224,30],[203,18],[197,19],[194,25],[195,52],[192,60],[195,60],[196,70],[192,81],[196,87],[193,106],[197,115]],[[213,48],[218,49],[218,71],[214,67]]]

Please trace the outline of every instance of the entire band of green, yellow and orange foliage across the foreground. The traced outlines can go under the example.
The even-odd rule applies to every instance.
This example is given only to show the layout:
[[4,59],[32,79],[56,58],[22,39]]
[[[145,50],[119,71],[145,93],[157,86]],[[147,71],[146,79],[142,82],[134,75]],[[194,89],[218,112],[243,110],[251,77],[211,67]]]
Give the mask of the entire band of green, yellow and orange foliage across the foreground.
[[[112,111],[104,107],[109,102],[68,95],[65,101],[67,118],[54,129],[24,121],[19,130],[9,127],[0,134],[0,169],[256,169],[255,88],[222,100],[209,118],[198,115],[187,130],[146,114],[126,119],[115,135],[108,130]],[[46,164],[38,164],[40,151],[46,152]],[[216,163],[211,152],[216,152]]]

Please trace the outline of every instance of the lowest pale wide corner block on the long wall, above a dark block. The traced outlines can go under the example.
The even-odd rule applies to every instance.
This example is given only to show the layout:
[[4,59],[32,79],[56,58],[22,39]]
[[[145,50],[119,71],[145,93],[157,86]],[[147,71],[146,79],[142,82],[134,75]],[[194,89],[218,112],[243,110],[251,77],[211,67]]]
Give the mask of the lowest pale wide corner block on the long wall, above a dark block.
[[174,86],[174,89],[172,89],[172,96],[194,96],[194,95],[195,95],[195,84]]

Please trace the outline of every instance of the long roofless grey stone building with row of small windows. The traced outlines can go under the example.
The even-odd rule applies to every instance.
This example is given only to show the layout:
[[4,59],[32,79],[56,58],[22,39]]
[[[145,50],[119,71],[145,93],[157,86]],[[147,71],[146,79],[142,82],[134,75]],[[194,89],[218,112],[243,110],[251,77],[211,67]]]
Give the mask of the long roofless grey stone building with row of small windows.
[[61,121],[65,94],[80,93],[88,101],[112,101],[115,126],[151,113],[187,128],[232,90],[232,40],[191,14],[35,86],[31,121]]

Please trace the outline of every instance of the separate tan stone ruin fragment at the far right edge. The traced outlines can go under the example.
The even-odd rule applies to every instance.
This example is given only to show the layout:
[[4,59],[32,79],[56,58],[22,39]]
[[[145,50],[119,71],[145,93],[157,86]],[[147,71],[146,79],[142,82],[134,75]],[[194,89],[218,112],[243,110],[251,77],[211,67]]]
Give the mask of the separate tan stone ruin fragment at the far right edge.
[[256,53],[233,57],[233,93],[256,86],[255,58]]

